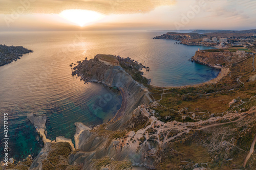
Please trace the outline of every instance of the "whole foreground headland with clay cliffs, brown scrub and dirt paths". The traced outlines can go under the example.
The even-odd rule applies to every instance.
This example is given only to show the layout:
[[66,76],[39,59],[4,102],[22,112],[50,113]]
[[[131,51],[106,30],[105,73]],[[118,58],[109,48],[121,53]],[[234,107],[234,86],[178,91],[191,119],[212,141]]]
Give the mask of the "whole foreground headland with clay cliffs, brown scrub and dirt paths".
[[[77,122],[75,150],[70,139],[46,140],[24,169],[255,169],[255,56],[226,60],[212,53],[198,52],[195,60],[210,65],[225,60],[228,75],[212,84],[169,89],[148,84],[140,71],[144,66],[130,58],[78,61],[72,75],[116,87],[122,106],[97,127]],[[45,129],[44,116],[28,118]]]

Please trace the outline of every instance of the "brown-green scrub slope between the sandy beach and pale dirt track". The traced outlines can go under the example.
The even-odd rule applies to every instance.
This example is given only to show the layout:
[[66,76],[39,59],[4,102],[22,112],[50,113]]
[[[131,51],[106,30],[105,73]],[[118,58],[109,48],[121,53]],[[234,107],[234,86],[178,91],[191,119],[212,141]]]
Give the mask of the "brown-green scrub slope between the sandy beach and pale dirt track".
[[[251,96],[256,95],[256,82],[248,81],[250,76],[256,74],[252,72],[252,58],[233,64],[230,71],[230,76],[224,77],[217,84],[165,89],[165,94],[162,95],[163,98],[159,102],[160,105],[152,109],[159,114],[159,118],[163,122],[166,122],[165,116],[170,116],[167,121],[177,120],[182,122],[181,116],[178,114],[178,111],[182,108],[187,108],[185,112],[205,112],[202,114],[197,113],[199,116],[210,115],[211,113],[221,113],[230,110],[231,108],[229,108],[228,103],[233,99],[248,101]],[[243,84],[238,83],[237,79],[239,77],[241,77],[240,81],[245,83],[244,87]],[[163,89],[150,88],[150,92],[153,93],[153,96],[160,96],[163,93]],[[241,102],[238,102],[238,104],[241,104]],[[250,102],[241,105],[238,111],[255,104],[256,102],[253,98]]]

